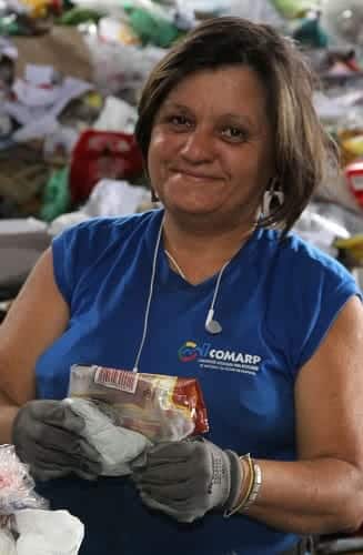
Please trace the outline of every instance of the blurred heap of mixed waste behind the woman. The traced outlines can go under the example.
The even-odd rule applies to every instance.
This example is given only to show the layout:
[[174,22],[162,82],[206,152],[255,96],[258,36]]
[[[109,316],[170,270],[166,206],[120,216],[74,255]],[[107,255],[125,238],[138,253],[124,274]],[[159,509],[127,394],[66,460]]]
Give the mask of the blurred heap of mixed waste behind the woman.
[[[0,0],[0,321],[52,236],[153,208],[133,137],[140,90],[174,41],[229,14],[292,37],[320,77],[341,171],[295,231],[363,284],[363,0]],[[319,549],[363,553],[363,535]]]

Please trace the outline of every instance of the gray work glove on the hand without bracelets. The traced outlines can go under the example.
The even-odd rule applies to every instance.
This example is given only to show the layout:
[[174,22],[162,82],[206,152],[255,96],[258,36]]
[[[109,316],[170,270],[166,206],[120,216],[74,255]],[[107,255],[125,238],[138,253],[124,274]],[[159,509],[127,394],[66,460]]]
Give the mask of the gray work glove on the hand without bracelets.
[[13,422],[12,443],[36,480],[78,474],[93,480],[100,474],[99,453],[81,437],[81,416],[61,401],[30,401]]

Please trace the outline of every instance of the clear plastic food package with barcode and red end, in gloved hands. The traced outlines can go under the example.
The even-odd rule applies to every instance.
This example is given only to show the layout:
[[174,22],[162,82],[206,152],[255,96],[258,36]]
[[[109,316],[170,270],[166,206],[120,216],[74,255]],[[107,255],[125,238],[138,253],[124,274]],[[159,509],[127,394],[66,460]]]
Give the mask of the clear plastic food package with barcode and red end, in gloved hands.
[[153,443],[209,430],[202,392],[192,377],[73,364],[68,395],[110,403],[117,410],[118,425]]

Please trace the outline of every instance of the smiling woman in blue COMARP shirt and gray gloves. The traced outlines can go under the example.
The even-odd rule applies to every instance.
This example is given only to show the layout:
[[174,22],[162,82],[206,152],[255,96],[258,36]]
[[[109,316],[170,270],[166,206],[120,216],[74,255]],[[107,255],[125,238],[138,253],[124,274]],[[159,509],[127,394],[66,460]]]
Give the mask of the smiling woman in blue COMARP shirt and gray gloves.
[[[41,491],[84,522],[83,555],[271,555],[362,521],[360,293],[289,234],[334,155],[311,97],[270,27],[201,24],[139,107],[164,209],[58,236],[0,330],[1,440],[58,478]],[[57,401],[73,363],[198,377],[210,433],[82,480],[98,455]]]

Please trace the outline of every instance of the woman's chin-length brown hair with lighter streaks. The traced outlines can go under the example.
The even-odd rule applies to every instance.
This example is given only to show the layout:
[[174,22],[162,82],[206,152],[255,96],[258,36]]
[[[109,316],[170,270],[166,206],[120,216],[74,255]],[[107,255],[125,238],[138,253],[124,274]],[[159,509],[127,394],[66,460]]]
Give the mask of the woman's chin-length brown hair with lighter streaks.
[[177,42],[144,84],[137,141],[147,164],[155,114],[171,90],[198,71],[239,64],[253,69],[265,88],[275,175],[284,193],[283,204],[262,218],[260,225],[278,226],[284,235],[306,206],[327,167],[336,164],[337,148],[313,107],[315,75],[294,42],[271,26],[242,18],[213,18]]

